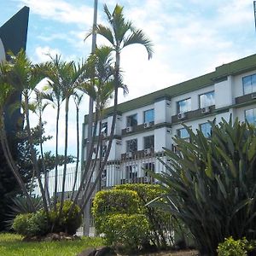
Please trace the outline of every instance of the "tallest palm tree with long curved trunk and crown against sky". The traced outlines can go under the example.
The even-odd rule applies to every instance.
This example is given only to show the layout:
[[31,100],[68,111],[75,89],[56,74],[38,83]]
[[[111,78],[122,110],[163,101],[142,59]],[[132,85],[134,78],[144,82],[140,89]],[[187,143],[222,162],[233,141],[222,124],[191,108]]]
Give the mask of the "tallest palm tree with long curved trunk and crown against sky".
[[[113,99],[113,121],[111,125],[110,136],[108,140],[108,148],[102,162],[102,166],[99,171],[99,175],[96,177],[96,181],[90,189],[90,193],[86,197],[82,208],[90,200],[90,196],[93,193],[93,190],[96,188],[96,183],[101,177],[101,173],[104,170],[104,166],[107,164],[108,156],[113,142],[113,132],[116,124],[117,116],[117,106],[118,106],[118,89],[120,87],[120,53],[122,49],[131,44],[141,44],[148,52],[148,60],[152,57],[153,48],[151,41],[145,36],[143,30],[135,28],[130,20],[125,20],[123,7],[119,4],[116,4],[113,9],[113,13],[110,13],[108,6],[104,5],[104,12],[107,16],[108,26],[97,25],[95,32],[98,35],[101,35],[103,38],[108,40],[108,43],[111,45],[112,50],[115,54],[115,65],[113,73],[114,81],[114,99]],[[91,31],[86,38],[88,38],[93,31]],[[86,39],[85,38],[85,39]]]

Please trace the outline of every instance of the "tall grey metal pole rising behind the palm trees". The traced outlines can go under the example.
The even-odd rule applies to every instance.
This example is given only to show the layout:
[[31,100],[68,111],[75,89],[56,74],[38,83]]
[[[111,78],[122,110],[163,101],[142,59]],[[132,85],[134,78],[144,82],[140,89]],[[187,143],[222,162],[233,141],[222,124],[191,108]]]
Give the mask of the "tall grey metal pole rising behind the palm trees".
[[[97,9],[98,9],[98,1],[94,0],[91,53],[94,53],[96,50]],[[92,143],[93,104],[94,104],[94,101],[92,97],[90,97],[89,114],[88,114],[88,132],[87,132],[88,137],[87,137],[87,144],[86,144],[86,160],[88,160],[90,146]],[[86,171],[87,170],[84,170],[84,172]],[[87,176],[89,177],[89,173],[87,173]],[[84,236],[89,236],[89,232],[90,232],[90,201],[84,207]]]

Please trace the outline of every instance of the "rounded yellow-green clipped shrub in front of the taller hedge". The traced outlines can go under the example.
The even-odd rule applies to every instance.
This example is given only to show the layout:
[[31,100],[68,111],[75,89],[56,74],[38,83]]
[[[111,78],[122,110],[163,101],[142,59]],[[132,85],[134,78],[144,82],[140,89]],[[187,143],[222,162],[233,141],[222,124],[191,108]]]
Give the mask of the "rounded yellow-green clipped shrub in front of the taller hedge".
[[105,218],[98,231],[109,246],[122,244],[126,251],[135,252],[148,240],[148,220],[143,214],[113,214]]

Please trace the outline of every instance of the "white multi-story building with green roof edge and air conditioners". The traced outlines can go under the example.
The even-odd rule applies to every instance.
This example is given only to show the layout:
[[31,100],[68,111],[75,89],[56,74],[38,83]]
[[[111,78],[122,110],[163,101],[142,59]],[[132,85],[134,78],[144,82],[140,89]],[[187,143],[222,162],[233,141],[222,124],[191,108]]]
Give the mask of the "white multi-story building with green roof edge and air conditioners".
[[[176,150],[172,137],[189,139],[192,131],[211,133],[208,120],[222,118],[256,124],[256,55],[216,67],[212,73],[119,104],[113,146],[102,174],[102,187],[155,182],[147,169],[162,172],[163,148]],[[113,108],[106,110],[109,135]],[[84,117],[82,162],[86,160],[87,119]]]

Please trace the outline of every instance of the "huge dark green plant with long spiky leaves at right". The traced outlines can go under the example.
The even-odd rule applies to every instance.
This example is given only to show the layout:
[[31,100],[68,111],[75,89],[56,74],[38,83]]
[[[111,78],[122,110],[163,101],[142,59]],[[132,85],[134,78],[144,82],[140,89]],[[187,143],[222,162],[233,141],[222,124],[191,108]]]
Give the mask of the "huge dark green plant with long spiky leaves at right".
[[175,137],[178,152],[166,149],[166,172],[155,174],[166,188],[162,207],[181,219],[201,254],[214,255],[225,237],[254,239],[256,230],[256,129],[237,119],[210,122],[211,137]]

